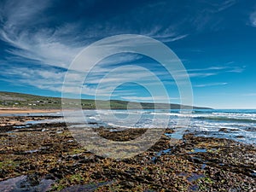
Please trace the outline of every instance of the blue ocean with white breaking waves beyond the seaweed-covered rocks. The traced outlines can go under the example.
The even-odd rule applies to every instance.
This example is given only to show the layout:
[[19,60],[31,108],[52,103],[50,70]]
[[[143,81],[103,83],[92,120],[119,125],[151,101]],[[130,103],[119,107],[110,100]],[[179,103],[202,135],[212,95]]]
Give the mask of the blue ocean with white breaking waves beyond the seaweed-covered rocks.
[[191,132],[200,137],[256,144],[256,109],[196,109],[190,113],[179,110],[84,110],[84,119],[91,127],[168,127],[178,132],[173,137]]

